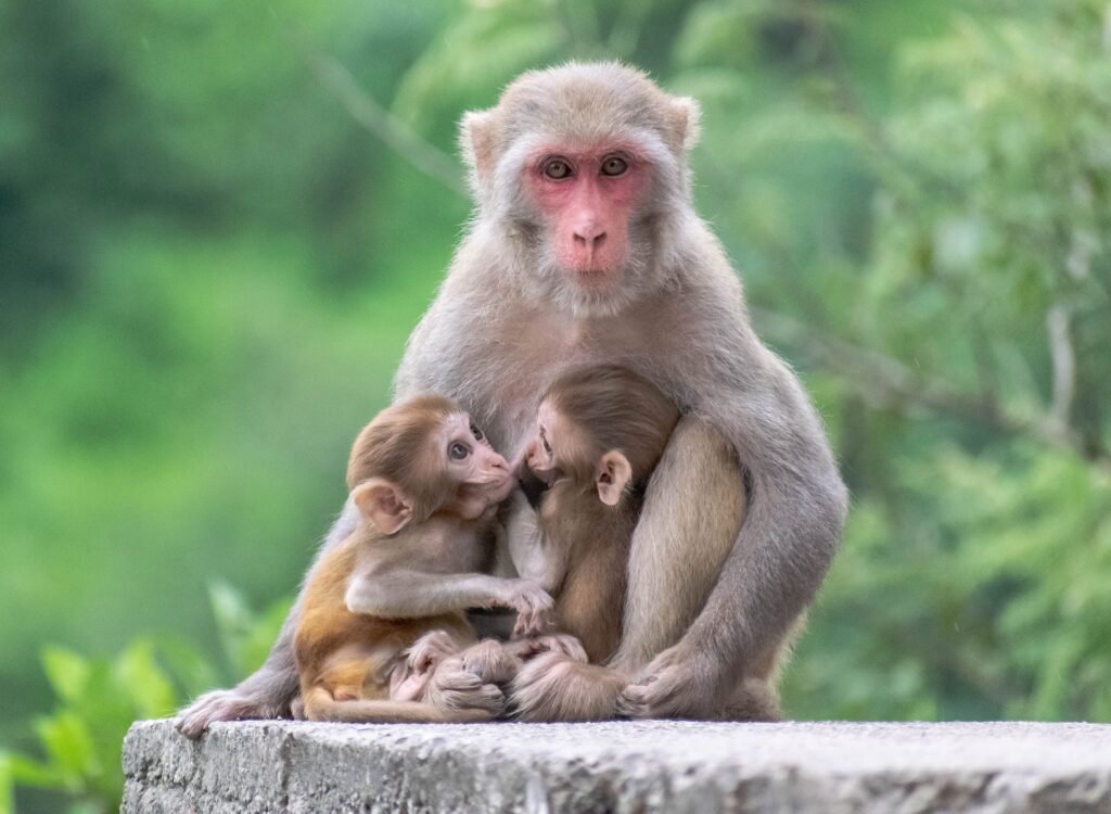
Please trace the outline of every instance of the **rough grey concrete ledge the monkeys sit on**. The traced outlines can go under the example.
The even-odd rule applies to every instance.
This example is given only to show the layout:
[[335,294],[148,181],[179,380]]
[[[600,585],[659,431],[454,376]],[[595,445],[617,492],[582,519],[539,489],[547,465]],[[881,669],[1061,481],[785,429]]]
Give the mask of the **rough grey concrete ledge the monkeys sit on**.
[[124,812],[1111,812],[1111,725],[134,724]]

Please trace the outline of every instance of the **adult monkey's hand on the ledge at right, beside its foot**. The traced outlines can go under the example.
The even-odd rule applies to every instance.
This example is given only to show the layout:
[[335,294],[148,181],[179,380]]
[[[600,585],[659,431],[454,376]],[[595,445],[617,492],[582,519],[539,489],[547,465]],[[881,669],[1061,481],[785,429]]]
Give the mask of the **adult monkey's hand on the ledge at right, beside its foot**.
[[618,696],[631,718],[711,718],[720,696],[713,665],[679,644],[652,659]]

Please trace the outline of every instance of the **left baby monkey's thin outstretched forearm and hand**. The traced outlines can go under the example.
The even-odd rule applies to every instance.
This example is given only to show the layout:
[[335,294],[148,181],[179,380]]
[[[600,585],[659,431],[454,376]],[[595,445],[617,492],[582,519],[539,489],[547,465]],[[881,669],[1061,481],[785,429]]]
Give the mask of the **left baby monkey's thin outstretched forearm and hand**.
[[518,633],[548,626],[552,598],[529,579],[502,579],[486,574],[428,574],[390,568],[354,574],[343,597],[356,614],[403,619],[463,610],[510,607],[518,613]]

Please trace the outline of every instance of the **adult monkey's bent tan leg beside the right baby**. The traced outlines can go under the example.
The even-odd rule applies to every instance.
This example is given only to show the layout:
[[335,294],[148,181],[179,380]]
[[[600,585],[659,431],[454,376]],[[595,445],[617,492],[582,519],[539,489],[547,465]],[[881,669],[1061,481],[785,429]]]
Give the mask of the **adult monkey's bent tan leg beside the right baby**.
[[633,533],[613,667],[635,675],[682,637],[705,605],[745,506],[732,447],[708,424],[681,419],[649,482]]

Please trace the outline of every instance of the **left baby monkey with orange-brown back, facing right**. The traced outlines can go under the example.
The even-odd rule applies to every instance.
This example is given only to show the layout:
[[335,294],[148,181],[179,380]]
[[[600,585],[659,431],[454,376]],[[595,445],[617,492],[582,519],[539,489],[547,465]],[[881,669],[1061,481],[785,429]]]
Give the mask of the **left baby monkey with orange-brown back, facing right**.
[[520,662],[497,642],[479,644],[464,610],[509,607],[516,632],[536,634],[552,607],[534,582],[481,573],[497,506],[514,486],[509,465],[456,404],[421,396],[362,430],[347,479],[359,524],[307,578],[298,711],[363,723],[496,717],[499,685]]

